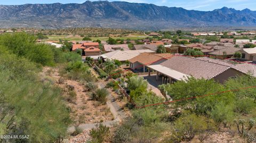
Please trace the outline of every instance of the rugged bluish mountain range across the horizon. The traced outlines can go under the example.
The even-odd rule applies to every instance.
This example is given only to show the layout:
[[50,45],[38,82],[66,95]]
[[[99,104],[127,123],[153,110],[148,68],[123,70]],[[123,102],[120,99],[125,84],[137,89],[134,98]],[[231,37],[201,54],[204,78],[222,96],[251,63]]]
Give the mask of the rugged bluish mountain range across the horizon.
[[256,11],[213,11],[145,3],[86,1],[82,4],[0,5],[0,28],[103,27],[160,30],[185,27],[256,27]]

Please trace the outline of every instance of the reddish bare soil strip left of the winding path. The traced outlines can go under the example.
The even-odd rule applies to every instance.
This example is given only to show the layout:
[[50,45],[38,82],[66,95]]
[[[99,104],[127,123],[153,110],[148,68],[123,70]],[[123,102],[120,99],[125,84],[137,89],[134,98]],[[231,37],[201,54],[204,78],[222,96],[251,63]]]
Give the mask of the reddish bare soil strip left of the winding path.
[[114,119],[107,105],[102,105],[99,102],[90,99],[91,92],[85,91],[82,83],[68,79],[62,83],[58,83],[58,80],[61,77],[57,68],[46,67],[43,69],[42,75],[42,77],[50,77],[54,80],[55,85],[63,89],[63,97],[68,95],[70,86],[74,87],[76,99],[73,102],[67,102],[67,106],[71,109],[70,117],[71,120],[73,120],[74,125],[104,122]]

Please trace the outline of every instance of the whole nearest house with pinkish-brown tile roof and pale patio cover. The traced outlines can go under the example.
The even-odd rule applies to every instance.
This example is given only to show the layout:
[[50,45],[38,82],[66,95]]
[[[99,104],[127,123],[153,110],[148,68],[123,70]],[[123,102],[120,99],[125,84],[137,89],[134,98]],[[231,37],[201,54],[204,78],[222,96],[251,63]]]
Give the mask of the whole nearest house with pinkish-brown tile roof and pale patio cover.
[[[244,74],[230,66],[185,56],[173,56],[161,64],[148,65],[148,68],[157,71],[156,80],[162,75],[162,83],[173,83],[177,80],[186,80],[188,77],[214,79],[223,83],[229,78]],[[150,76],[150,70],[148,75]]]

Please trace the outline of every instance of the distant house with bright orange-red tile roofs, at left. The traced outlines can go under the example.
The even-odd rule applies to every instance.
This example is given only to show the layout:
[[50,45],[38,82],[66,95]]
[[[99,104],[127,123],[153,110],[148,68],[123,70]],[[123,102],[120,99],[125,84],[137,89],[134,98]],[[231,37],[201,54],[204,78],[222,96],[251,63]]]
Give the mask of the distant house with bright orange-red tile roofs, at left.
[[72,51],[76,51],[76,49],[82,49],[83,56],[97,56],[101,54],[99,43],[73,44]]

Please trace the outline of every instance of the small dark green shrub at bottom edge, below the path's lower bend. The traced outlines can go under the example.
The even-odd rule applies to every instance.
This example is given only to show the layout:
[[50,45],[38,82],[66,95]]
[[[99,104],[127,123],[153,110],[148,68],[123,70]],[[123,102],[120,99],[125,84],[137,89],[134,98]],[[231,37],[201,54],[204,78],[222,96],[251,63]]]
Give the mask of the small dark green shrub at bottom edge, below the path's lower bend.
[[106,125],[99,124],[98,128],[93,128],[90,131],[90,136],[92,137],[92,142],[101,143],[109,135],[109,127]]

